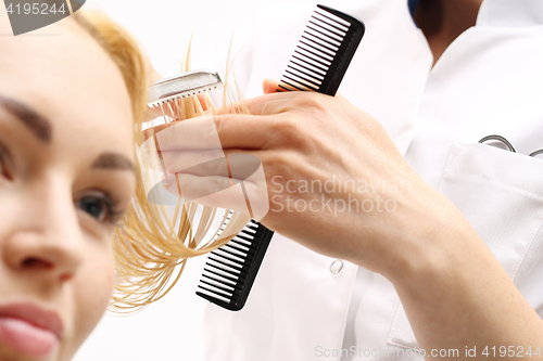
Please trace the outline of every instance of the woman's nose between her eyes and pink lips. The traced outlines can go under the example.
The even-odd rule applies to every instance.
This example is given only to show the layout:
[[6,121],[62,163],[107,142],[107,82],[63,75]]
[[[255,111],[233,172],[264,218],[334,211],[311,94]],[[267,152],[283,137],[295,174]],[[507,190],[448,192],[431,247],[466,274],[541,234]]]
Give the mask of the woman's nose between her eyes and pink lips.
[[17,208],[0,254],[17,273],[65,282],[76,274],[85,252],[72,194],[66,192],[71,188],[40,189]]

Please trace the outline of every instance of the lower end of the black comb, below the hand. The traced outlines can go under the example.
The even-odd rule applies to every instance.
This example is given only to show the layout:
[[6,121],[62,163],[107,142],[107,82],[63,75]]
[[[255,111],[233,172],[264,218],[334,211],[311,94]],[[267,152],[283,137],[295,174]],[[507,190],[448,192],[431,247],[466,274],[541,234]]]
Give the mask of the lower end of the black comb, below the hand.
[[[223,229],[230,217],[231,211]],[[273,234],[251,220],[238,235],[211,253],[198,285],[201,291],[197,295],[227,310],[241,310]]]

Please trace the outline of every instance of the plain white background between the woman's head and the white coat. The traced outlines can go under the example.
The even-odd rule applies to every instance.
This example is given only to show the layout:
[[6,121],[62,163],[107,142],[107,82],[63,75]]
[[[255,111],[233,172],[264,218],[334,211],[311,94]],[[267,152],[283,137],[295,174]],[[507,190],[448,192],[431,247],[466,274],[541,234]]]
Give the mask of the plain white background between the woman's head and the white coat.
[[[179,73],[177,61],[182,60],[192,34],[192,68],[226,64],[232,34],[240,48],[250,35],[251,20],[264,4],[262,0],[93,0],[85,7],[100,8],[128,28],[159,73],[169,76]],[[74,360],[203,360],[201,317],[206,301],[194,292],[205,257],[189,260],[173,292],[142,312],[106,314]]]

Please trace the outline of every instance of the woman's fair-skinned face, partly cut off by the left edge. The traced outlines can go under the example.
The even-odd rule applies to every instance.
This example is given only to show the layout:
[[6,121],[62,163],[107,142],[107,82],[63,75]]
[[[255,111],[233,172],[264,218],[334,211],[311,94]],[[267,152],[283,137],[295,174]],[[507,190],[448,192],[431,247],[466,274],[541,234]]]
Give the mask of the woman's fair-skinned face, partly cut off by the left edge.
[[0,360],[68,360],[103,314],[136,186],[130,109],[73,20],[0,36]]

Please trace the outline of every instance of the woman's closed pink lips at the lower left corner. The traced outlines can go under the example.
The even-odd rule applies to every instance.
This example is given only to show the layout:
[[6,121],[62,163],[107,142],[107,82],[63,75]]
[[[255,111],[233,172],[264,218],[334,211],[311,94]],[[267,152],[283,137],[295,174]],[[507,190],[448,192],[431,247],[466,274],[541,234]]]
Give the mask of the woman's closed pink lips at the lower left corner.
[[47,356],[59,346],[63,332],[56,312],[31,304],[0,306],[0,344],[15,351]]

